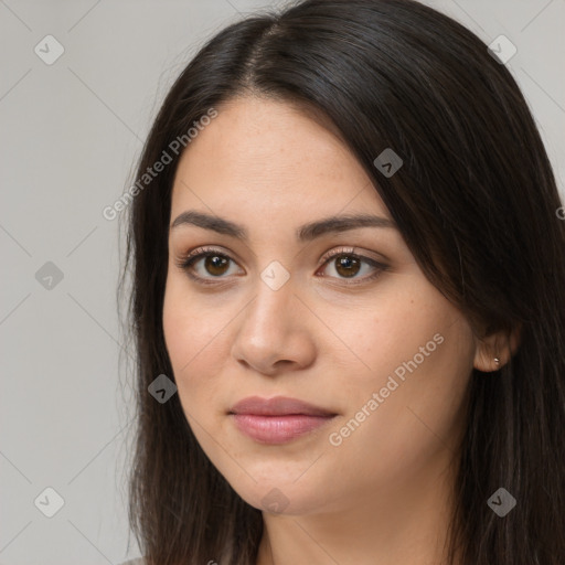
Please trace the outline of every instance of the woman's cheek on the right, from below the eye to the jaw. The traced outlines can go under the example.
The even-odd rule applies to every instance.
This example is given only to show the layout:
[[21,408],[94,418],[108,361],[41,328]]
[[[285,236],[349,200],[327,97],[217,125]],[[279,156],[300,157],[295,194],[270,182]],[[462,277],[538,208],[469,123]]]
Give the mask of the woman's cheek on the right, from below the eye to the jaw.
[[[362,454],[373,469],[388,461],[399,472],[411,459],[425,458],[443,445],[455,446],[472,370],[473,337],[465,317],[427,286],[381,305],[376,315],[358,310],[354,317],[340,318],[334,312],[330,323],[354,352],[337,361],[344,371],[334,373],[341,373],[334,395],[347,407],[342,423],[351,423],[343,451],[351,450],[352,457]],[[374,393],[380,396],[376,408],[374,402],[370,405]],[[367,451],[367,445],[376,447]]]

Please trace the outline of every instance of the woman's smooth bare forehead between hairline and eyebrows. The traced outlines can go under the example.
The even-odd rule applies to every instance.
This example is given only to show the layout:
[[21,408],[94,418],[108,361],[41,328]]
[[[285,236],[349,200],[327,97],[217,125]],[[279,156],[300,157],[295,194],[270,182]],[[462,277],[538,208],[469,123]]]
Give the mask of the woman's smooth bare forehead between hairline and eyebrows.
[[257,97],[216,109],[181,157],[172,214],[204,205],[223,215],[329,215],[348,207],[390,217],[363,167],[319,113]]

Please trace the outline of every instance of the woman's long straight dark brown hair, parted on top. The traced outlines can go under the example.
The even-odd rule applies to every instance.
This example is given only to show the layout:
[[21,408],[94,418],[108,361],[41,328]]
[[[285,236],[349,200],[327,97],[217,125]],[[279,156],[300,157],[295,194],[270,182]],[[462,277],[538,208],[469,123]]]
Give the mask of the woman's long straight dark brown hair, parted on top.
[[[188,425],[163,339],[171,142],[211,108],[245,95],[299,103],[340,131],[426,277],[473,328],[521,328],[493,373],[473,370],[449,531],[449,562],[565,563],[565,222],[554,173],[508,68],[450,18],[413,0],[306,0],[231,24],[192,58],[154,120],[140,181],[172,162],[124,217],[120,303],[135,344],[136,431],[129,520],[148,565],[252,565],[259,510],[218,473]],[[175,147],[175,146],[174,146]],[[404,161],[386,178],[373,161]],[[128,288],[127,279],[131,277]],[[463,376],[463,375],[461,375]],[[516,507],[498,516],[499,488]]]

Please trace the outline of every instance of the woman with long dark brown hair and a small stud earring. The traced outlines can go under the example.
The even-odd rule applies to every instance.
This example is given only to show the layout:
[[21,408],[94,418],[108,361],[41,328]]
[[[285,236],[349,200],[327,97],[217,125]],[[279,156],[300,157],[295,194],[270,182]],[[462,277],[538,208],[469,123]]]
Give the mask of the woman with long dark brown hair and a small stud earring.
[[564,563],[562,202],[477,36],[412,0],[230,25],[136,186],[148,565]]

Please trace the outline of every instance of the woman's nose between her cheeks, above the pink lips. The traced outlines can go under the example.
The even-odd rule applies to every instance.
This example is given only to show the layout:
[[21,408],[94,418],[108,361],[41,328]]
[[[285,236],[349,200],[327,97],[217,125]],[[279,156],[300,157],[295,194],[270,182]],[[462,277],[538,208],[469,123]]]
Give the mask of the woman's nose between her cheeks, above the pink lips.
[[270,376],[306,369],[316,358],[315,322],[291,280],[277,290],[258,280],[255,298],[242,312],[232,355]]

